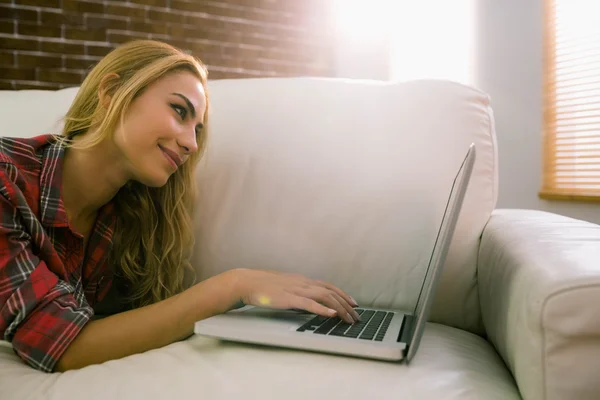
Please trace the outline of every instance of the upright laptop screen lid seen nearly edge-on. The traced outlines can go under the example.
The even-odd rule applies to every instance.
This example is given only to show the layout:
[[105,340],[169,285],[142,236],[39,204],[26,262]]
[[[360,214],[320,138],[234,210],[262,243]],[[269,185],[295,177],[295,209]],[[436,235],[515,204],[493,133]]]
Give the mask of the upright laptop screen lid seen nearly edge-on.
[[473,170],[473,164],[475,162],[475,145],[469,146],[469,151],[465,156],[454,182],[450,190],[450,196],[446,203],[446,209],[442,217],[442,222],[438,230],[437,237],[431,252],[429,264],[427,266],[427,272],[423,279],[421,291],[417,298],[417,303],[414,309],[415,320],[410,327],[409,337],[409,349],[406,356],[407,360],[410,361],[412,356],[415,354],[417,347],[419,346],[425,323],[429,317],[429,311],[431,304],[433,303],[435,291],[438,286],[439,278],[442,273],[442,268],[446,261],[446,255],[452,235],[456,228],[456,222],[458,215],[462,208],[462,203],[465,197],[467,186],[471,178],[471,172]]

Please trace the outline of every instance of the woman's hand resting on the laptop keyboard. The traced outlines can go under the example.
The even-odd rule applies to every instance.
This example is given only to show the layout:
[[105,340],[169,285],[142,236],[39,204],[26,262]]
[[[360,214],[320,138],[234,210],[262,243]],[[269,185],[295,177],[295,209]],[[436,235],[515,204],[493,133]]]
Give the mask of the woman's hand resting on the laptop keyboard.
[[356,301],[341,289],[297,274],[236,269],[236,295],[247,305],[302,309],[327,317],[338,316],[348,323],[360,320]]

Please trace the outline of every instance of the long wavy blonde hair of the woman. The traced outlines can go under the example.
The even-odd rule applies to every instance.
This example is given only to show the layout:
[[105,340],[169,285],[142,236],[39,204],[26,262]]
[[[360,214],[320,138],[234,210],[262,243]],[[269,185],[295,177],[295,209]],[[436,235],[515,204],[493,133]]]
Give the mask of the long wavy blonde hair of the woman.
[[[117,47],[83,81],[65,116],[59,140],[72,148],[97,145],[115,132],[133,100],[148,85],[181,70],[196,75],[207,93],[208,73],[197,58],[152,40]],[[105,108],[99,104],[98,94],[107,76],[112,78],[105,80],[103,87],[111,102]],[[164,186],[151,188],[132,181],[114,198],[117,224],[110,262],[115,273],[127,281],[132,305],[151,304],[181,292],[188,278],[186,273],[193,274],[189,259],[194,242],[194,175],[206,144],[208,98],[206,104],[198,152]]]

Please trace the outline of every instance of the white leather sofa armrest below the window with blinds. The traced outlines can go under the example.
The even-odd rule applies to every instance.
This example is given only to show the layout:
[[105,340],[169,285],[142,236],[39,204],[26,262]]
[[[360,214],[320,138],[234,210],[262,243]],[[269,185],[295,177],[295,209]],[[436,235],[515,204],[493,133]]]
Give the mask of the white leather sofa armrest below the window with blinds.
[[600,399],[600,226],[495,210],[477,268],[488,338],[523,398]]

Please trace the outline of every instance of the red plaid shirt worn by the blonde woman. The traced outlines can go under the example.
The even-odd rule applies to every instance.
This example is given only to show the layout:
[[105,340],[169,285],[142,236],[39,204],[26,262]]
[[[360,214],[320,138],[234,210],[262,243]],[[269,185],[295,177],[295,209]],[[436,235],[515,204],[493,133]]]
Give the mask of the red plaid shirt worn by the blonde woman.
[[0,138],[0,335],[46,372],[112,282],[114,206],[99,211],[84,254],[60,194],[64,154],[51,135]]

